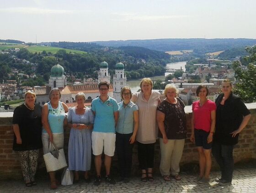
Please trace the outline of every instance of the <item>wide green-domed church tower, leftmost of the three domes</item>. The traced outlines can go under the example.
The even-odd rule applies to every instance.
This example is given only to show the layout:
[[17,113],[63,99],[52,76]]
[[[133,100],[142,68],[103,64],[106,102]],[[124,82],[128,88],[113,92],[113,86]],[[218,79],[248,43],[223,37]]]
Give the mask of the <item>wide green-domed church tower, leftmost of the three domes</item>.
[[49,78],[49,86],[51,88],[64,88],[67,86],[67,78],[64,75],[64,68],[59,64],[51,68],[51,76]]

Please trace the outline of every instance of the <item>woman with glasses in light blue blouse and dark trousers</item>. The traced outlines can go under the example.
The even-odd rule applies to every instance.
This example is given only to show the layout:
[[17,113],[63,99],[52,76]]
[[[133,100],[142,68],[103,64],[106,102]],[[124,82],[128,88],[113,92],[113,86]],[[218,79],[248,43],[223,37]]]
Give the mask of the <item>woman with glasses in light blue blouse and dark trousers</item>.
[[139,108],[131,102],[132,91],[128,86],[121,90],[123,102],[118,103],[116,149],[121,180],[129,181],[132,168],[133,143],[139,127]]

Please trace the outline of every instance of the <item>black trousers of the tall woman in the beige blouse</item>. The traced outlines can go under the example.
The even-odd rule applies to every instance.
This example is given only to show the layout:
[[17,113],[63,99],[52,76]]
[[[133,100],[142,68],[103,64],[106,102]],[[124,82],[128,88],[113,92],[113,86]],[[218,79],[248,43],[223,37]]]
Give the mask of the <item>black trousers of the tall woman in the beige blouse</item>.
[[154,168],[155,143],[144,144],[138,142],[139,168]]

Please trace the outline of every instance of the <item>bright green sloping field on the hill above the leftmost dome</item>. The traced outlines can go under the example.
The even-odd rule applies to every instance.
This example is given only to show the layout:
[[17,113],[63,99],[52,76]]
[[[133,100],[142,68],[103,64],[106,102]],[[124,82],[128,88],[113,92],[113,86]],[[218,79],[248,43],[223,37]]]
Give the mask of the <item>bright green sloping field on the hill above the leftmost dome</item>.
[[64,49],[64,48],[58,48],[58,47],[51,47],[51,46],[28,46],[26,47],[26,49],[32,53],[35,52],[42,52],[42,51],[46,51],[46,52],[52,52],[52,54],[56,53],[59,50],[65,50],[67,53],[71,52],[71,53],[76,53],[76,54],[86,54],[85,51],[78,51],[78,50],[70,50],[70,49]]

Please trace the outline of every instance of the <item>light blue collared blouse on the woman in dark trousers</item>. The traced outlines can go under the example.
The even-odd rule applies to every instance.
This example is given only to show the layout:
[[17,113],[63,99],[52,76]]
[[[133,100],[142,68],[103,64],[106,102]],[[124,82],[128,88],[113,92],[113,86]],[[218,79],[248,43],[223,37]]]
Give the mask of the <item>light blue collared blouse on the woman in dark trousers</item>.
[[118,122],[116,132],[121,134],[129,134],[133,132],[133,112],[138,111],[139,108],[133,102],[129,102],[124,107],[123,102],[118,103]]

